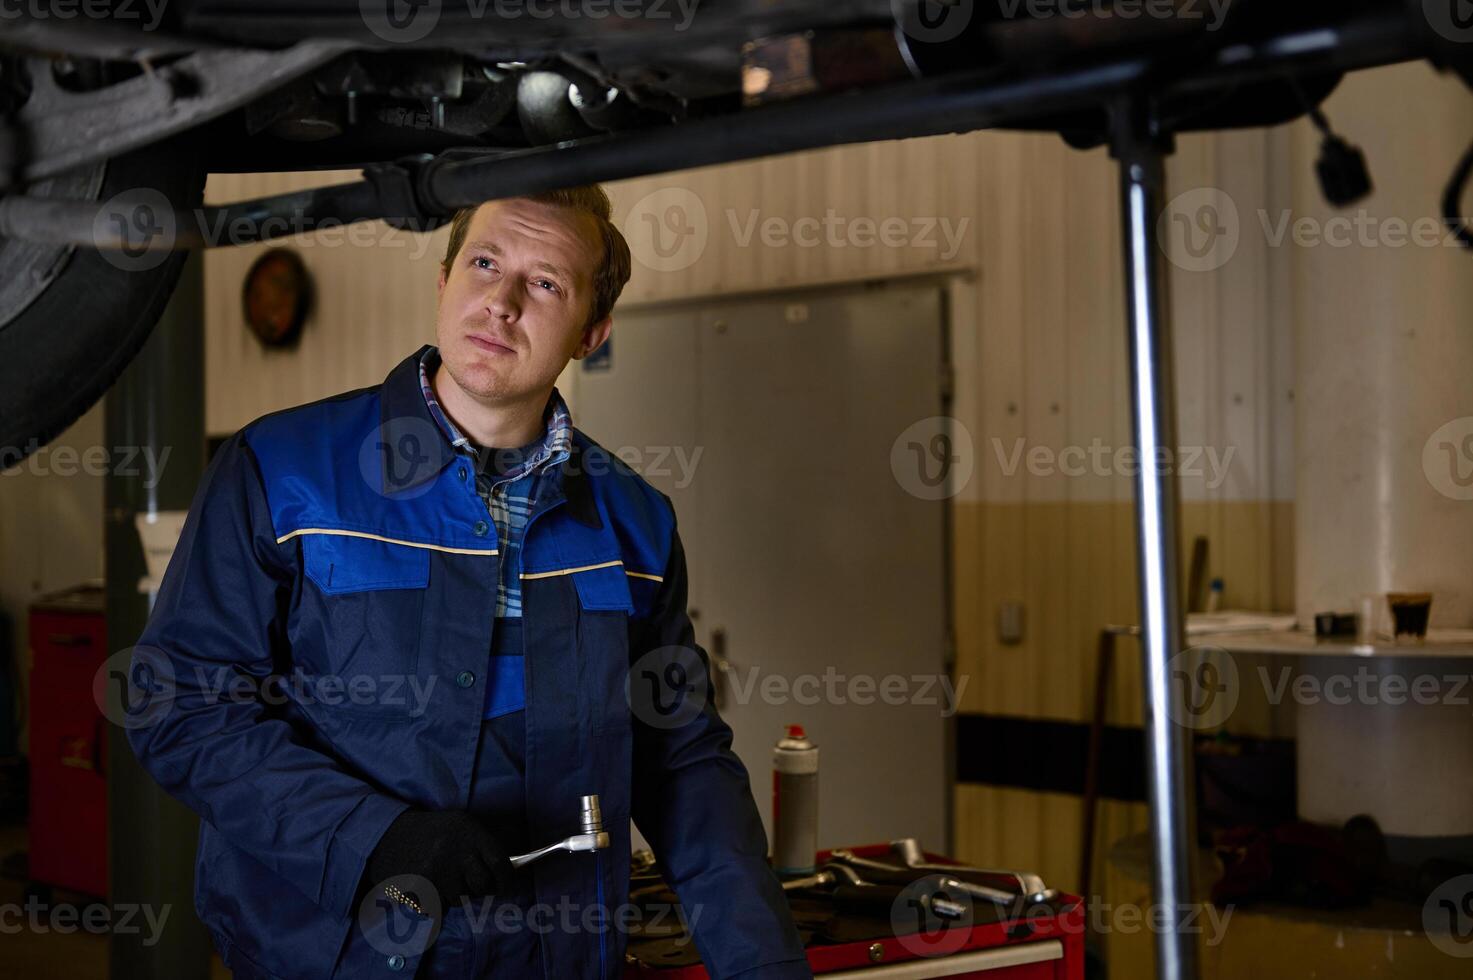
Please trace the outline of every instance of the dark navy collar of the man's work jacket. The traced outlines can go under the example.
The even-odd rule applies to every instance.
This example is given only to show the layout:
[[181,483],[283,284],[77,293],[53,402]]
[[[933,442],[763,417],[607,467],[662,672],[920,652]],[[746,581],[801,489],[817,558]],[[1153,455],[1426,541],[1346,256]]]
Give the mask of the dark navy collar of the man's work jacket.
[[[439,477],[457,458],[455,447],[445,436],[445,429],[435,421],[420,388],[420,358],[429,348],[430,345],[424,345],[399,361],[380,389],[377,448],[383,491],[389,498],[417,495],[415,491]],[[569,516],[597,531],[604,523],[588,482],[585,448],[582,433],[574,430],[567,458],[549,473],[546,500],[548,507],[564,500]]]

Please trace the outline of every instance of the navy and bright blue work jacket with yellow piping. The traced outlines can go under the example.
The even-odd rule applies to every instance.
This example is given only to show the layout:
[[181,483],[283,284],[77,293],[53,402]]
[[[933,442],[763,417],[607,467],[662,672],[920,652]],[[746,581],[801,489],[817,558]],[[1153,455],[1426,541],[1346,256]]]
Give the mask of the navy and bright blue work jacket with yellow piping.
[[[467,806],[501,560],[418,357],[219,448],[131,659],[153,703],[128,738],[200,815],[196,911],[247,976],[412,976],[423,951],[365,942],[355,892],[407,806]],[[548,486],[507,569],[523,595],[527,828],[576,833],[597,793],[613,844],[530,865],[539,902],[623,903],[633,818],[688,918],[700,906],[713,977],[809,977],[729,727],[710,699],[683,716],[630,709],[630,665],[651,651],[707,663],[670,500],[582,432]],[[544,933],[548,980],[620,976],[626,936],[605,924]]]

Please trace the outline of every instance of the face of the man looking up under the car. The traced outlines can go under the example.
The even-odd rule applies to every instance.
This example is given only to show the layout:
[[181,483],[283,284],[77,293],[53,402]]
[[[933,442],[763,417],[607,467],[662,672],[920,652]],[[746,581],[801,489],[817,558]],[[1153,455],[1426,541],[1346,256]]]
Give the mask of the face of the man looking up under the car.
[[513,197],[482,205],[451,270],[440,271],[440,360],[474,399],[507,404],[552,388],[570,358],[595,351],[602,242],[592,215]]

